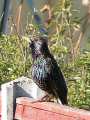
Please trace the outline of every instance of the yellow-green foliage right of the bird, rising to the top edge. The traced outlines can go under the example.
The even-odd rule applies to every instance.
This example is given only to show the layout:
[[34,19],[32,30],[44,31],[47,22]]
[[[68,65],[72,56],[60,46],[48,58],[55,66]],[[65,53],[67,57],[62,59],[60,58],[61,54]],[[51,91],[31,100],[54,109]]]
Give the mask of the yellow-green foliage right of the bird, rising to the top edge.
[[81,18],[74,12],[80,11],[73,9],[71,0],[59,0],[49,26],[54,27],[50,48],[66,78],[69,104],[90,110],[90,52],[82,48],[77,56],[72,54],[76,42],[73,34],[81,26]]

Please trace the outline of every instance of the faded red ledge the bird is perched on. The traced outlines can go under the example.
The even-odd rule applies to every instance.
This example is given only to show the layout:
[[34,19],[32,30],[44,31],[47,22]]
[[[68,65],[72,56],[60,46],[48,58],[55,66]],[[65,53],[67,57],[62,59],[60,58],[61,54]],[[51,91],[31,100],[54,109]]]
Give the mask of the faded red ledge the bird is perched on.
[[32,103],[26,97],[16,100],[18,120],[90,120],[90,112],[51,102]]

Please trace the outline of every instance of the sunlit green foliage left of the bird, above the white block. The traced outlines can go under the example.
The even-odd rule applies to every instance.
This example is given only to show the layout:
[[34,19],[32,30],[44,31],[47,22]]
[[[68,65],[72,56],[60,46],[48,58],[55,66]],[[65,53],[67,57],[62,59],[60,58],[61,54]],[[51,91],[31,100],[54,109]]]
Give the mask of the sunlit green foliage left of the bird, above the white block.
[[22,46],[23,50],[17,36],[0,37],[0,84],[26,75],[30,69],[31,57],[24,39]]

